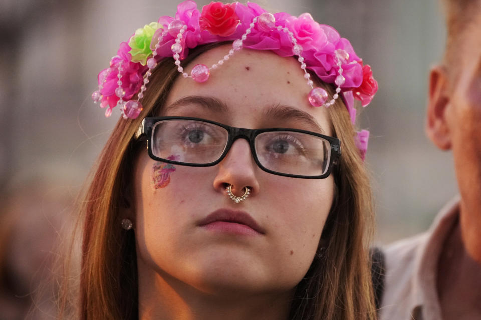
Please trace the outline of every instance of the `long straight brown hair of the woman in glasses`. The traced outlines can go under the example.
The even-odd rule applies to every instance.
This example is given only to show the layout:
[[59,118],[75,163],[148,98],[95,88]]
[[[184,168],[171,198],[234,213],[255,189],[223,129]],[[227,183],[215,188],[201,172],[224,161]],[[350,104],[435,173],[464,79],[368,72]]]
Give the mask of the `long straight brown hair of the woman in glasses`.
[[[220,44],[191,50],[184,65]],[[176,76],[172,59],[159,63],[143,98],[144,116],[160,113]],[[333,94],[332,88],[328,89]],[[290,318],[374,319],[366,237],[372,226],[369,181],[354,145],[355,132],[346,107],[338,100],[329,113],[334,135],[342,141],[341,160],[333,173],[336,198],[322,233],[322,246],[297,286]],[[138,319],[135,237],[120,227],[120,207],[129,205],[124,195],[130,192],[133,161],[145,148],[132,139],[141,120],[118,121],[81,202],[84,228],[78,312],[83,320]],[[61,304],[60,317],[65,316],[65,306]]]

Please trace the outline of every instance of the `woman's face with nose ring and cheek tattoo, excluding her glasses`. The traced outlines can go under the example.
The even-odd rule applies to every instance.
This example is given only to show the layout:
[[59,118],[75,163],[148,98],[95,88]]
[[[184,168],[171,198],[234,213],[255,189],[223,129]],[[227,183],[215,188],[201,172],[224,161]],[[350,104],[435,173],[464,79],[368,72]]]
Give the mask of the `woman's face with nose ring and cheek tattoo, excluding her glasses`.
[[[202,54],[186,71],[216,63],[229,48]],[[332,135],[326,109],[309,104],[303,75],[293,58],[240,50],[207,82],[179,76],[161,115]],[[292,292],[311,265],[334,196],[332,175],[300,179],[261,170],[242,138],[211,167],[167,165],[142,151],[134,179],[141,283],[182,283],[208,293]],[[227,196],[229,184],[238,196],[249,187],[249,197],[235,203]],[[211,214],[223,222],[207,223]]]

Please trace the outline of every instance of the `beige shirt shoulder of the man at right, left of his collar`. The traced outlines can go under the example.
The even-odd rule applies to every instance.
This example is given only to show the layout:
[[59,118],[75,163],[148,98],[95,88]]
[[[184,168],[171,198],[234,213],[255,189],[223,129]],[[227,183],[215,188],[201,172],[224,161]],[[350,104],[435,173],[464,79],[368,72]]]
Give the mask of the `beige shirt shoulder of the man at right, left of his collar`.
[[383,248],[385,256],[384,294],[380,319],[409,319],[416,301],[416,270],[429,233],[403,239]]

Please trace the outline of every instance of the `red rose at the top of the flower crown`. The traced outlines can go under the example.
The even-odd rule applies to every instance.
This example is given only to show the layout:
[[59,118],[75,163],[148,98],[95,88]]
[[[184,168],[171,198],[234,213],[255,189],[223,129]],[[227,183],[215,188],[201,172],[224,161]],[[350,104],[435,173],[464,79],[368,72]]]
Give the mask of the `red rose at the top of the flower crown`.
[[234,3],[210,2],[209,5],[202,8],[199,19],[200,27],[214,35],[232,35],[240,22],[234,9]]

